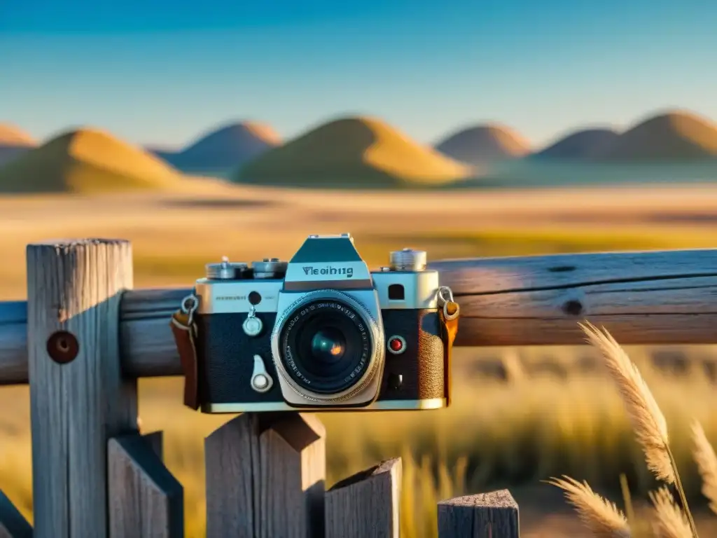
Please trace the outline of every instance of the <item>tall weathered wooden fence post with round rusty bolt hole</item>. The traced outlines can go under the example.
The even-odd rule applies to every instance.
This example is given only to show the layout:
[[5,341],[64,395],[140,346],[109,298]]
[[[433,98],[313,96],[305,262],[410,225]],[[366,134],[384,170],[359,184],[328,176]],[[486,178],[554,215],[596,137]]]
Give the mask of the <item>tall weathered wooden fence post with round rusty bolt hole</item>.
[[[120,296],[132,280],[126,241],[27,247],[36,538],[107,536],[107,443],[137,428],[137,383],[120,372]],[[50,358],[55,331],[79,343],[67,364]]]

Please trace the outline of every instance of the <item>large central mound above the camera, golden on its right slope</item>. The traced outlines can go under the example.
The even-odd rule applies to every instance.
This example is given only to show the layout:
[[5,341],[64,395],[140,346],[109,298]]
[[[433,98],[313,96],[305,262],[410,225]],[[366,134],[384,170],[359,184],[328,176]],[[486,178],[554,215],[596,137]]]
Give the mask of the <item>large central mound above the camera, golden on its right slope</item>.
[[267,151],[238,182],[303,187],[436,185],[470,174],[459,164],[376,118],[342,118]]

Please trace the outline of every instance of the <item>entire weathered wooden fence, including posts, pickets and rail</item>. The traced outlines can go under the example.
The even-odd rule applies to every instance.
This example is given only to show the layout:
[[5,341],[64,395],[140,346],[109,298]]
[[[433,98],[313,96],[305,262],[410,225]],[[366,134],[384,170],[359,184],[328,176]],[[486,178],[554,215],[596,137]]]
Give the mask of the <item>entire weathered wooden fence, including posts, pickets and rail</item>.
[[[576,321],[624,344],[707,344],[717,251],[434,263],[461,304],[458,345],[579,344]],[[179,375],[168,326],[189,290],[133,291],[130,244],[28,245],[27,303],[0,303],[0,384],[29,383],[34,529],[0,491],[0,537],[177,538],[184,494],[161,432],[137,423],[138,377]],[[400,459],[325,491],[314,415],[244,413],[205,440],[206,536],[396,538]],[[518,538],[508,491],[442,501],[441,538]]]

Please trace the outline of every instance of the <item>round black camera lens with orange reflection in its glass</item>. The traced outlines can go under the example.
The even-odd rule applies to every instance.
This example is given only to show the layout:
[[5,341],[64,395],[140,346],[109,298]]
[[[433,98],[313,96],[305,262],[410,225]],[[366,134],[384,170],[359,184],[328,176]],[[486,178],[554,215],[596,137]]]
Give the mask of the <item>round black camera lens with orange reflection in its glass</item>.
[[280,360],[298,386],[331,395],[358,383],[373,342],[355,308],[337,299],[306,303],[290,313],[279,337]]

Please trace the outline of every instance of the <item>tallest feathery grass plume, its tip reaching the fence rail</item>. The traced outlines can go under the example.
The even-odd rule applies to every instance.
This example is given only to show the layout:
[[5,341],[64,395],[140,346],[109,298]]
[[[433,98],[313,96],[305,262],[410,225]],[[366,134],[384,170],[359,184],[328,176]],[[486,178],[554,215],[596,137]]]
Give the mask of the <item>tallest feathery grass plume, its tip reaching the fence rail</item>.
[[670,458],[670,440],[665,415],[642,379],[640,371],[612,336],[589,322],[579,324],[587,341],[604,358],[607,371],[617,385],[627,414],[630,415],[635,438],[645,452],[647,467],[660,480],[675,483],[675,468]]

